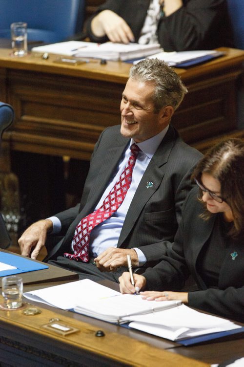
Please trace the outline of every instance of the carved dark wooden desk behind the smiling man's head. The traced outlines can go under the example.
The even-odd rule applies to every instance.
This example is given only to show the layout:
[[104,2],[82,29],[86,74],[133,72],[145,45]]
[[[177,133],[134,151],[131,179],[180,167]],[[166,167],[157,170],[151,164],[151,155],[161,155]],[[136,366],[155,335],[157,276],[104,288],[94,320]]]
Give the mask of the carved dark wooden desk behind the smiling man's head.
[[[220,49],[226,56],[176,69],[189,93],[172,123],[186,142],[201,150],[212,138],[242,133],[237,131],[236,94],[244,51]],[[101,131],[120,124],[121,94],[131,65],[69,66],[54,63],[56,58],[16,58],[9,49],[0,49],[0,100],[16,113],[4,139],[11,150],[88,160]]]

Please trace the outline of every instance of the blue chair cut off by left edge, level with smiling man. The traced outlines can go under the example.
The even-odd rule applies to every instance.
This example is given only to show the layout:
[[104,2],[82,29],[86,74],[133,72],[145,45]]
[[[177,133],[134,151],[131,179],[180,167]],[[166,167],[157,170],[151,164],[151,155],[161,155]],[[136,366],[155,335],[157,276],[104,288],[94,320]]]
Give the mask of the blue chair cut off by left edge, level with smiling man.
[[[14,110],[10,105],[0,102],[0,143],[2,133],[14,120]],[[7,248],[11,244],[11,238],[7,232],[4,220],[0,214],[0,248]]]

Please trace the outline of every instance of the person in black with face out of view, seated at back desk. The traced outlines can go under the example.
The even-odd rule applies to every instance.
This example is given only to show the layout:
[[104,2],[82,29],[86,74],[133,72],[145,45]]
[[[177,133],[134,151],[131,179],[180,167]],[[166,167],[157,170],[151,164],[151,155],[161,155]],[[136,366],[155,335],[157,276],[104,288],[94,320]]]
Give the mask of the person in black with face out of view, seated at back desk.
[[233,45],[225,0],[107,0],[86,32],[91,42],[160,43],[164,51]]

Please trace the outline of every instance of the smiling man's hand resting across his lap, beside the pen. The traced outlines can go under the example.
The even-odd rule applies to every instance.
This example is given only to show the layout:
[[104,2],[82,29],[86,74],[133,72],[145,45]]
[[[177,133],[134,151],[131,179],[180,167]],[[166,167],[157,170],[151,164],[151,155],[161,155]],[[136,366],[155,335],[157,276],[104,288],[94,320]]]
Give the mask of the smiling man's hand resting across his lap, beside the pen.
[[135,250],[109,247],[94,261],[100,271],[116,271],[119,266],[127,266],[127,255],[130,255],[131,264],[137,267],[139,260]]

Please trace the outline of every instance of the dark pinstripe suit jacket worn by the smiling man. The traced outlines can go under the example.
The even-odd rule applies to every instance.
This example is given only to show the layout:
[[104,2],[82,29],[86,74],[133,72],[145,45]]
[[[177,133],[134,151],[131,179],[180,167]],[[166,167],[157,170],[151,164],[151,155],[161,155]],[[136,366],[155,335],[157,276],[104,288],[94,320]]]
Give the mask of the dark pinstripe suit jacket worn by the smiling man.
[[[91,213],[111,175],[116,173],[128,143],[120,126],[104,130],[95,146],[81,203],[57,214],[64,237],[49,251],[46,260],[56,259],[70,249],[75,228],[81,218]],[[181,218],[181,206],[191,188],[189,175],[202,154],[189,147],[173,127],[169,127],[152,157],[124,220],[118,247],[138,247],[148,264],[158,262],[165,254],[163,240],[173,240]],[[147,182],[153,186],[146,188]]]

